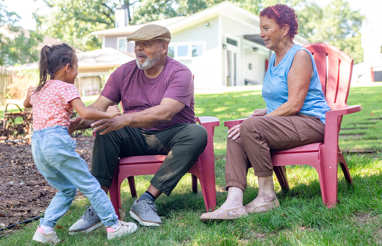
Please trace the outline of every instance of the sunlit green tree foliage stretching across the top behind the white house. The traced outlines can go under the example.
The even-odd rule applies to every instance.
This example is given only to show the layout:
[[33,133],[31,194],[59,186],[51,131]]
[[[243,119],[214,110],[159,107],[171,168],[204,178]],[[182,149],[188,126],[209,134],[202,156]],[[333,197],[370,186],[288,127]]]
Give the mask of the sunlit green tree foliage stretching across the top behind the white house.
[[[92,31],[113,28],[116,8],[128,10],[129,24],[142,24],[175,16],[188,16],[223,0],[44,0],[52,7],[47,16],[35,15],[41,31],[84,51],[99,49],[102,41]],[[321,8],[316,0],[231,0],[258,15],[270,5],[284,3],[295,8],[299,35],[309,42],[327,42],[363,60],[359,29],[364,18],[349,3],[333,0]]]

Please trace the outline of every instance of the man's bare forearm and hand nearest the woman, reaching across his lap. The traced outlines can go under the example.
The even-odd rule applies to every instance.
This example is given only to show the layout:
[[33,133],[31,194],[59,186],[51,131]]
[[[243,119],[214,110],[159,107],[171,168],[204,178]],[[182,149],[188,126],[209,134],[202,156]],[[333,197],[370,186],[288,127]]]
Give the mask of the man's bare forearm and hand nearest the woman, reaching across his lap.
[[171,98],[163,98],[159,105],[140,112],[122,114],[113,119],[96,121],[91,124],[94,130],[101,130],[100,134],[106,134],[112,130],[119,130],[125,126],[148,128],[155,125],[165,124],[185,107],[184,103]]

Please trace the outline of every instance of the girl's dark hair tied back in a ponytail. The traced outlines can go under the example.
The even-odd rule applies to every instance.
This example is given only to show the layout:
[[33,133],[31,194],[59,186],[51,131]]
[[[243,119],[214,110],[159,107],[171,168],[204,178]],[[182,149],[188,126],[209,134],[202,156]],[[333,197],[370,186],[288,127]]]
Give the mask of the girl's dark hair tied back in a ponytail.
[[54,74],[65,67],[66,64],[69,63],[70,67],[73,66],[74,56],[74,48],[66,43],[55,44],[52,47],[45,45],[41,49],[39,85],[33,91],[41,90],[48,80],[48,75],[50,79],[54,79]]

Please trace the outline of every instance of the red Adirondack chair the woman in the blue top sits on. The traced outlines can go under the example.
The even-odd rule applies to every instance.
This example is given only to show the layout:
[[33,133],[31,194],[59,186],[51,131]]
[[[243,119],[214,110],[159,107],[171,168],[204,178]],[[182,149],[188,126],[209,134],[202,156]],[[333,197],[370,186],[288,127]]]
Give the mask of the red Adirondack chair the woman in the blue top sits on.
[[[329,208],[335,206],[337,202],[337,163],[340,163],[346,181],[353,184],[345,158],[338,147],[338,132],[342,116],[359,112],[362,107],[361,105],[348,106],[346,104],[353,59],[337,47],[324,43],[307,44],[304,47],[314,55],[322,91],[332,109],[326,112],[324,143],[312,143],[288,150],[271,150],[272,164],[283,190],[289,189],[286,165],[311,165],[314,167],[320,181],[322,201]],[[243,121],[244,119],[226,121],[224,126],[228,126],[230,129]]]

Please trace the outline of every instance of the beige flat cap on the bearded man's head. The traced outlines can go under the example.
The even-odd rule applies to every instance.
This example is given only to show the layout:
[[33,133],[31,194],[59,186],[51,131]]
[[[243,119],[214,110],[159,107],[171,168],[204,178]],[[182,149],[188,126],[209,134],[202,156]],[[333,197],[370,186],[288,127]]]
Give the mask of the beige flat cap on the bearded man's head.
[[139,28],[134,33],[127,37],[127,41],[148,41],[160,39],[162,41],[170,42],[171,34],[167,28],[158,25],[146,25]]

